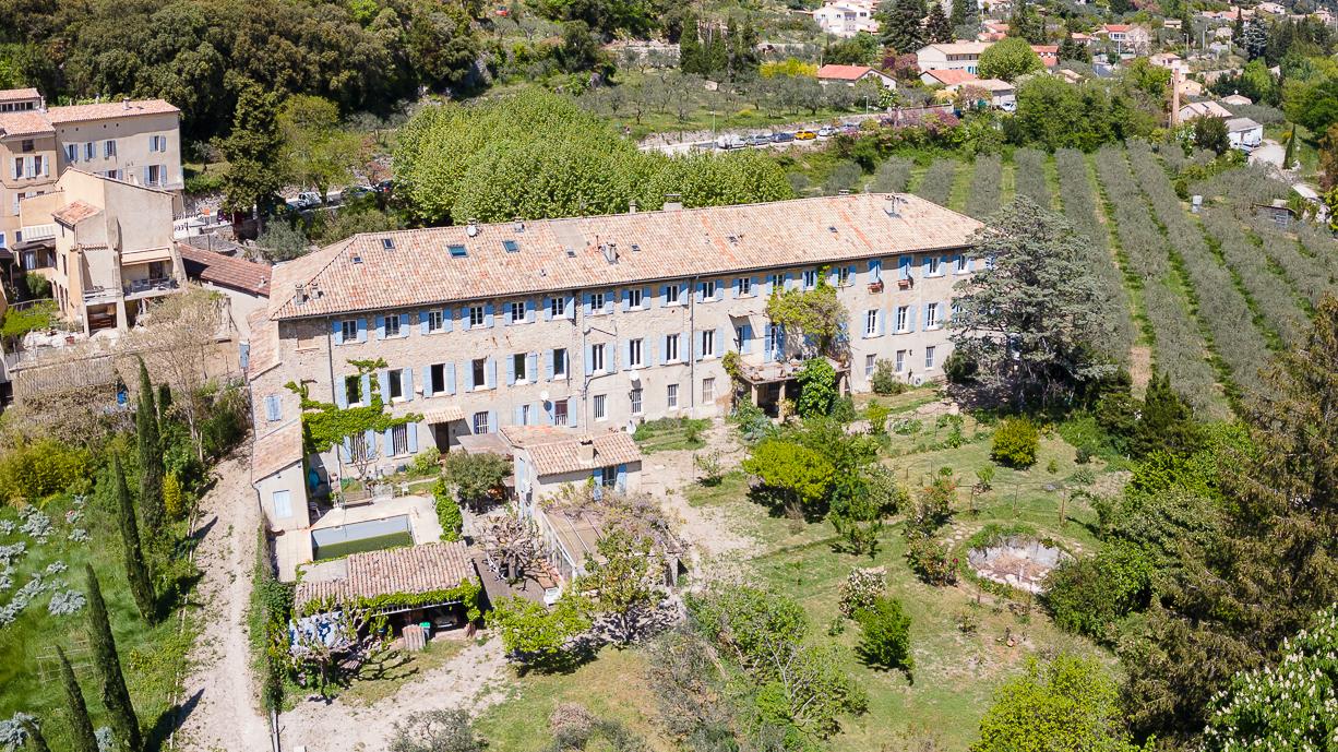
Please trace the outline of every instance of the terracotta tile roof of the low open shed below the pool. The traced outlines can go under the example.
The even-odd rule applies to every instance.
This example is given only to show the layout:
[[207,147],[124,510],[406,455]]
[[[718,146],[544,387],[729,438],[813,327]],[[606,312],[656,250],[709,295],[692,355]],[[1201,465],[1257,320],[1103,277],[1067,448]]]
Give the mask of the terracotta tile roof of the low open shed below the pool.
[[344,559],[348,574],[343,579],[300,582],[294,607],[312,601],[351,601],[393,593],[431,593],[450,590],[468,579],[478,579],[468,547],[462,542],[423,543],[409,549],[367,551]]

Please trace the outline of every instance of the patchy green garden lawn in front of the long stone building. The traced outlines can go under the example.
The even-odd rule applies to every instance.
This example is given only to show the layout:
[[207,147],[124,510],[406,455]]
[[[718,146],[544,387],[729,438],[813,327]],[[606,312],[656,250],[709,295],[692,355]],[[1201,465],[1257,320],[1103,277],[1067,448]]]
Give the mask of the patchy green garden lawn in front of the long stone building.
[[[935,401],[937,395],[915,389],[874,399],[894,407],[892,424],[898,416],[907,417]],[[1085,503],[1066,503],[1066,519],[1060,521],[1065,487],[1080,483],[1072,478],[1078,470],[1074,450],[1058,435],[1042,438],[1033,468],[998,468],[993,490],[977,499],[973,514],[970,486],[975,483],[974,471],[989,464],[991,430],[966,417],[961,431],[965,443],[955,448],[942,446],[950,431],[950,426],[938,426],[937,420],[922,420],[918,432],[890,438],[883,462],[913,490],[942,467],[954,470],[959,482],[957,514],[939,533],[951,542],[953,555],[965,561],[966,539],[987,523],[1025,523],[1070,550],[1098,547],[1092,533],[1096,515]],[[1048,470],[1052,460],[1053,474]],[[1096,472],[1098,486],[1117,487],[1120,476],[1101,460],[1088,467]],[[978,720],[993,692],[1036,656],[1077,652],[1097,656],[1115,670],[1108,653],[1058,632],[1033,599],[1021,593],[1012,599],[999,598],[965,578],[955,587],[921,583],[903,559],[899,519],[891,521],[872,559],[855,557],[834,547],[838,538],[831,525],[775,516],[751,502],[747,491],[747,478],[740,471],[725,475],[719,486],[684,490],[692,506],[710,507],[729,530],[757,543],[748,570],[756,579],[799,599],[809,616],[815,640],[851,648],[846,668],[868,690],[870,712],[844,720],[843,732],[831,744],[838,752],[875,752],[896,748],[896,740],[926,736],[935,737],[941,749],[965,749],[975,739]],[[840,582],[852,567],[871,565],[887,567],[891,594],[914,620],[914,681],[902,672],[863,665],[852,650],[859,628],[838,618]],[[970,614],[977,624],[973,632],[958,628],[962,614]],[[842,628],[832,630],[835,634],[830,632],[834,625]],[[1006,645],[1009,637],[1014,646]],[[480,729],[499,749],[538,751],[547,740],[541,721],[557,702],[571,700],[646,735],[653,749],[665,749],[668,741],[657,732],[654,702],[646,694],[642,670],[637,650],[605,649],[594,662],[573,673],[520,677],[512,696],[483,716]]]

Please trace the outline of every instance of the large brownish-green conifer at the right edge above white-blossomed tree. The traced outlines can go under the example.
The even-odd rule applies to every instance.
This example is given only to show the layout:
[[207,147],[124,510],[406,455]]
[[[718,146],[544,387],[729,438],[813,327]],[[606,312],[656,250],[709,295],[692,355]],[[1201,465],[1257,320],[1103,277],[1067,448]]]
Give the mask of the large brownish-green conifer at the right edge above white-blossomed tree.
[[1338,601],[1338,300],[1306,345],[1284,352],[1248,409],[1252,448],[1223,468],[1227,534],[1185,546],[1159,585],[1144,640],[1121,645],[1135,728],[1193,744],[1231,676],[1278,657],[1282,640]]

